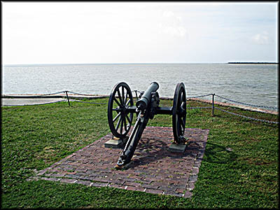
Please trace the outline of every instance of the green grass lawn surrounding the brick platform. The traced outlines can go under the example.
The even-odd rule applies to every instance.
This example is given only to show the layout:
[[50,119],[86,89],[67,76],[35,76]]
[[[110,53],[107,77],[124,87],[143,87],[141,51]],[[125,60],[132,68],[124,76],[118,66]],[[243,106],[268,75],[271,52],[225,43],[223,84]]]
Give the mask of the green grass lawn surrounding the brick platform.
[[[108,102],[108,99],[94,99]],[[162,100],[172,106],[172,101]],[[188,102],[188,106],[204,106]],[[208,106],[208,105],[207,105]],[[228,109],[277,121],[267,113]],[[278,125],[211,109],[188,110],[186,127],[209,129],[191,199],[52,181],[26,181],[40,170],[110,132],[107,106],[67,102],[3,107],[2,208],[278,208]],[[135,117],[134,117],[135,118]],[[148,126],[172,127],[172,116]],[[226,148],[232,148],[227,151]],[[172,175],[172,174],[171,174]]]

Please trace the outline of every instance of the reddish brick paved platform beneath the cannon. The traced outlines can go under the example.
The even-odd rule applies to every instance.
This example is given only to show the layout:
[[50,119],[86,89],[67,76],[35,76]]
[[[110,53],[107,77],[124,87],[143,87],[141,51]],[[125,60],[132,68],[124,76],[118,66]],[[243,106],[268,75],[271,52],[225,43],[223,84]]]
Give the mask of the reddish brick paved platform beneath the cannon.
[[87,186],[138,190],[146,193],[191,197],[207,144],[209,130],[186,128],[188,146],[172,153],[172,127],[146,127],[125,170],[116,170],[122,149],[105,148],[108,134],[76,153],[39,171],[29,180],[45,179]]

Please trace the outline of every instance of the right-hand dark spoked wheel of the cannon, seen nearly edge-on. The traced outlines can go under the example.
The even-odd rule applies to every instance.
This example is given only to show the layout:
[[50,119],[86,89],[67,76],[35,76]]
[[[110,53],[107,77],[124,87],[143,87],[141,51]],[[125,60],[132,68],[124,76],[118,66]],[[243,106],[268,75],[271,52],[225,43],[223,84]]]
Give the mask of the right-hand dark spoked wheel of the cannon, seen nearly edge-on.
[[186,139],[184,138],[186,127],[186,89],[183,83],[176,85],[173,108],[172,108],[172,127],[174,142],[176,144],[184,144]]

